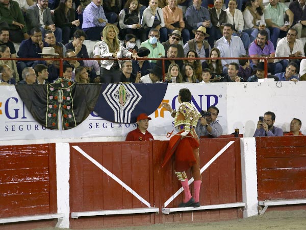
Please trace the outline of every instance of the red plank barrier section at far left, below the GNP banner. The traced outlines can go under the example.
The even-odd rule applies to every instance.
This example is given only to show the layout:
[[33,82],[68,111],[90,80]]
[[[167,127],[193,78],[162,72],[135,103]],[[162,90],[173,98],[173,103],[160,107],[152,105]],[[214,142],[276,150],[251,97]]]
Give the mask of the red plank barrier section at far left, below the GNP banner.
[[0,146],[0,218],[57,213],[55,144]]

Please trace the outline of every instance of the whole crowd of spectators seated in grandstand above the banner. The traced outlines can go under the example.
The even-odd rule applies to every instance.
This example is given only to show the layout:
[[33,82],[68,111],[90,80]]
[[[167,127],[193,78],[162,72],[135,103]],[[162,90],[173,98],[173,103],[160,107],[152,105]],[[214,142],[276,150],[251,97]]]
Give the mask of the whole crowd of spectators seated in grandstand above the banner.
[[[304,80],[306,0],[279,1],[0,0],[1,84],[258,81],[265,61],[275,80]],[[74,60],[60,76],[52,58]]]

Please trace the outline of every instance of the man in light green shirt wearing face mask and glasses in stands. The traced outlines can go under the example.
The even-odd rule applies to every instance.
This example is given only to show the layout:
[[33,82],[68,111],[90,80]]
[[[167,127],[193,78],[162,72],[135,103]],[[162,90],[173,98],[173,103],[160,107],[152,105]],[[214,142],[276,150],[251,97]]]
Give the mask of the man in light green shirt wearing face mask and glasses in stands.
[[[150,51],[148,58],[160,58],[162,56],[165,56],[164,46],[158,41],[159,37],[159,31],[157,29],[151,29],[149,32],[148,39],[141,43],[140,47],[145,47]],[[156,60],[150,60],[150,62],[151,65],[156,64]]]

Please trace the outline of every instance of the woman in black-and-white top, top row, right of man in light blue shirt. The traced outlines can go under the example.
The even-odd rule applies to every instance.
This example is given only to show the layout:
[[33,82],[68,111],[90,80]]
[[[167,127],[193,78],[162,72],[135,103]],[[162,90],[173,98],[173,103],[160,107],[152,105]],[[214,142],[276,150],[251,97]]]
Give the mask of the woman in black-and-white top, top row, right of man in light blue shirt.
[[123,10],[119,13],[120,37],[126,34],[134,34],[140,38],[141,23],[138,0],[127,0]]

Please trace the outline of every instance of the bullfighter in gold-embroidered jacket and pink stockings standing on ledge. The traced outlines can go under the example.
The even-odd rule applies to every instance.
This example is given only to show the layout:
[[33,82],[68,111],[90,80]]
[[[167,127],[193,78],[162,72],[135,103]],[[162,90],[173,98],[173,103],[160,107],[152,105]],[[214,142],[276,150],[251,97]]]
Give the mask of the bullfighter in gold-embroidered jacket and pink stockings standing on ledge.
[[[181,88],[179,96],[177,97],[180,103],[177,111],[172,109],[168,103],[162,102],[162,106],[170,111],[171,117],[174,118],[174,127],[179,130],[179,132],[172,136],[169,141],[162,167],[164,167],[171,156],[175,154],[175,174],[179,181],[181,181],[185,195],[183,202],[179,205],[180,208],[200,206],[199,194],[202,178],[199,167],[199,140],[195,132],[200,113],[190,104],[191,97],[192,95],[189,89]],[[194,198],[191,196],[188,178],[185,173],[185,170],[189,168],[194,178]]]

